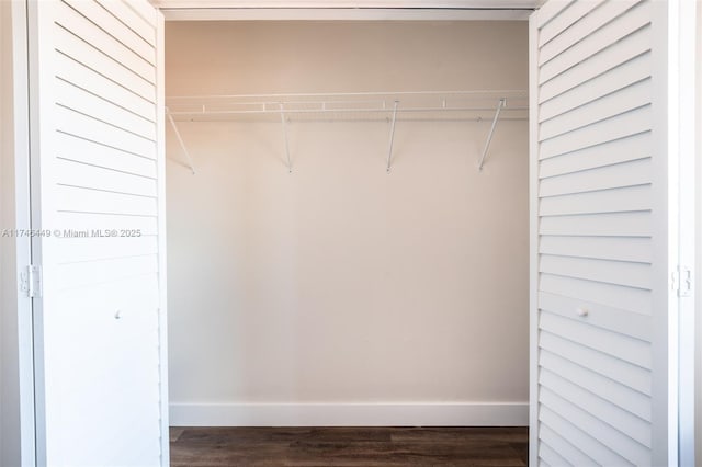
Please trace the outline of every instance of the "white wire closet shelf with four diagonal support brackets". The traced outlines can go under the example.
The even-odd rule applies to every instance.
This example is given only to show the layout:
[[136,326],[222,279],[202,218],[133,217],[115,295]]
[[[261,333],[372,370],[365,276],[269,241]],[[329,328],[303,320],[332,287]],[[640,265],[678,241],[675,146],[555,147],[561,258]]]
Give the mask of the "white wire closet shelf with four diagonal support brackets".
[[192,159],[177,122],[275,122],[287,146],[293,122],[388,122],[386,170],[390,171],[397,122],[491,122],[478,169],[483,169],[498,121],[526,121],[529,96],[523,90],[348,92],[314,94],[186,95],[166,98],[166,114],[190,169]]

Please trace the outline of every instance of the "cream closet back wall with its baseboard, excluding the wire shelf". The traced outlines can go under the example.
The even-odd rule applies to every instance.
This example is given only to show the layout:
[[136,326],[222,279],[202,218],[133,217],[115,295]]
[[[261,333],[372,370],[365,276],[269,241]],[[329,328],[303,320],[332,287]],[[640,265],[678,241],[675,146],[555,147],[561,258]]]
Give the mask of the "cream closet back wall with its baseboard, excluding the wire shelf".
[[[526,89],[526,32],[168,23],[167,94]],[[180,128],[197,174],[168,164],[173,424],[526,423],[526,122],[500,123],[483,173],[489,123],[400,122],[389,175],[385,122],[293,122],[292,174],[279,124]]]

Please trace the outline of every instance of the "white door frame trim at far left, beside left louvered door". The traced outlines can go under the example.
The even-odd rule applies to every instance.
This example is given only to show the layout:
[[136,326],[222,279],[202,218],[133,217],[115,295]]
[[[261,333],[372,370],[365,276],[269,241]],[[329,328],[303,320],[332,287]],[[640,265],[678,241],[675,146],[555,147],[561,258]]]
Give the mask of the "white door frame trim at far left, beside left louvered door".
[[[10,3],[12,23],[12,67],[3,72],[12,80],[12,153],[2,163],[12,173],[12,183],[0,183],[0,198],[8,212],[3,213],[3,228],[31,228],[30,224],[30,128],[27,106],[27,42],[26,3]],[[5,175],[8,176],[8,175]],[[11,208],[10,208],[11,206]],[[10,224],[4,224],[4,221]],[[5,239],[7,240],[7,239]],[[19,293],[19,274],[31,262],[30,238],[7,241],[2,249],[3,284],[0,312],[2,319],[2,441],[0,464],[22,467],[35,466],[34,441],[34,366],[32,341],[32,300]],[[10,251],[11,249],[11,251]],[[5,295],[8,294],[8,295]],[[4,306],[8,306],[4,308]],[[12,444],[10,444],[12,443]]]

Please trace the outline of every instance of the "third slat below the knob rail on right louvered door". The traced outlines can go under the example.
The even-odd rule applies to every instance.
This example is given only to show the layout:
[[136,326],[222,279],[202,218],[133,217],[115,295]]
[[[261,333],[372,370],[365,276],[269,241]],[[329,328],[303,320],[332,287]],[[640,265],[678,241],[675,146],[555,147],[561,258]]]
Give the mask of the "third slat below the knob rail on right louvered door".
[[539,355],[539,363],[543,368],[615,403],[636,417],[650,421],[649,397],[546,350],[542,350]]

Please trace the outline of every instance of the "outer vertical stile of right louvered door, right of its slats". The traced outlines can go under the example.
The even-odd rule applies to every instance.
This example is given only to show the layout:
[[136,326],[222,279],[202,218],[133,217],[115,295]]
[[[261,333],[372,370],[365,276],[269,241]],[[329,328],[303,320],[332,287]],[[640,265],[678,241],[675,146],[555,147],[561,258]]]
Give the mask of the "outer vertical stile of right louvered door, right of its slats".
[[[677,463],[677,294],[670,278],[677,269],[677,193],[671,189],[677,171],[675,138],[670,129],[669,2],[652,2],[652,95],[654,179],[652,193],[652,465]],[[675,170],[675,171],[673,171]],[[675,189],[677,191],[677,187]],[[672,197],[676,202],[672,202]],[[673,221],[675,218],[675,221]]]

